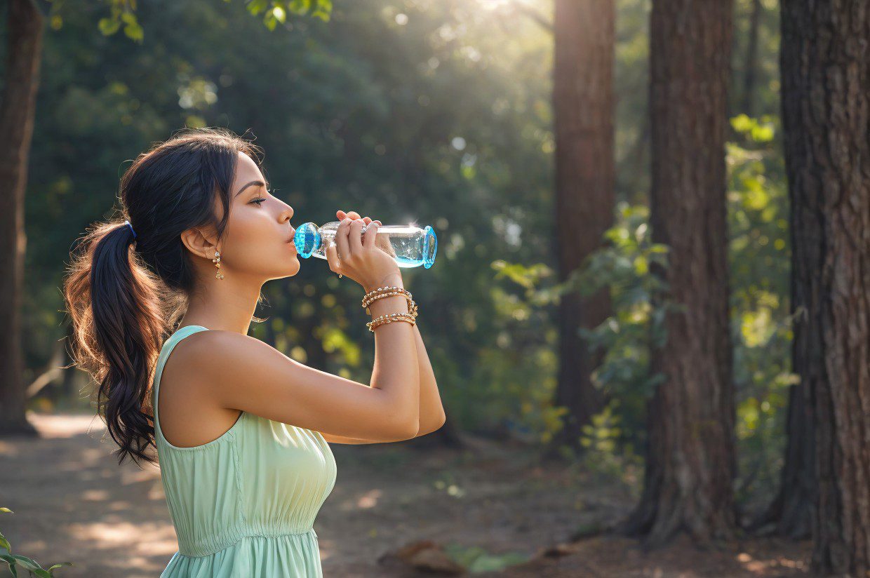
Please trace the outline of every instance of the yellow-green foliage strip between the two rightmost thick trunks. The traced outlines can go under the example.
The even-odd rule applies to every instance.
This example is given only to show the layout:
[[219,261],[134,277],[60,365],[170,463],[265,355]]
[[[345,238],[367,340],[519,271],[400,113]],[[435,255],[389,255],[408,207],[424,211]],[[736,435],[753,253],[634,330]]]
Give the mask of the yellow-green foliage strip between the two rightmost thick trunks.
[[726,160],[738,498],[764,500],[778,482],[788,386],[797,381],[788,315],[788,199],[779,118],[738,115],[731,125],[735,141]]

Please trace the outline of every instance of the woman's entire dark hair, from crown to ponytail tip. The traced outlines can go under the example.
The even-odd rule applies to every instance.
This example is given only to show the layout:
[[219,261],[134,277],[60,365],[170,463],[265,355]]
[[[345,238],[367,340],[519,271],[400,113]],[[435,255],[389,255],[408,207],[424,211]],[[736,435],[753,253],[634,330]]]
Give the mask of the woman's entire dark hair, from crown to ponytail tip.
[[[261,166],[261,150],[223,128],[183,129],[152,144],[121,177],[121,215],[90,225],[72,252],[63,289],[70,355],[99,383],[97,413],[104,410],[120,446],[118,464],[127,455],[137,464],[157,462],[145,453],[157,448],[151,382],[195,289],[181,233],[211,225],[223,236],[238,153]],[[215,196],[224,207],[219,222]]]

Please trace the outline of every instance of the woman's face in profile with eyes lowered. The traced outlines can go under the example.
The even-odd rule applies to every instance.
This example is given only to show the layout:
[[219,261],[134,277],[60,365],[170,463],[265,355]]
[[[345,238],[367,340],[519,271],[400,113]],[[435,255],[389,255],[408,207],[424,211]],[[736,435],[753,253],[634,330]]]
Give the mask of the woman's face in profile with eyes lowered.
[[[299,271],[293,243],[296,229],[290,224],[293,209],[271,196],[268,184],[257,163],[239,152],[236,177],[230,189],[230,219],[219,243],[220,270],[226,280],[237,276],[264,282]],[[222,216],[223,207],[218,200],[216,204],[218,216]]]

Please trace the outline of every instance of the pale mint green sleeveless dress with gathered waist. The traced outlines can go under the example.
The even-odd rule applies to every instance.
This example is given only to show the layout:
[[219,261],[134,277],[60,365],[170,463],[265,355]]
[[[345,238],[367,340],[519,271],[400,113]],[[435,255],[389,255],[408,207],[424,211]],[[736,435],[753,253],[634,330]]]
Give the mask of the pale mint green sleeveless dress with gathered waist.
[[[157,358],[151,393],[157,460],[178,538],[161,578],[323,576],[313,523],[336,480],[323,435],[242,412],[223,435],[179,448],[160,430],[167,357],[201,325],[178,329]],[[239,384],[244,387],[244,384]]]

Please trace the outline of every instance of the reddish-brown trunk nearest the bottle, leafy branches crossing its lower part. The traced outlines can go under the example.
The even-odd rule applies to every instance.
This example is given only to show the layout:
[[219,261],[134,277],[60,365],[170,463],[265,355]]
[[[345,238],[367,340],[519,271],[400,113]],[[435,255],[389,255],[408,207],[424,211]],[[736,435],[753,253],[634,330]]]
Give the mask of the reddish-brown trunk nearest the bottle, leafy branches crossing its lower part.
[[[553,111],[556,133],[556,214],[559,281],[601,246],[613,223],[612,0],[557,0]],[[611,315],[606,289],[576,293],[559,303],[559,377],[555,403],[568,409],[551,448],[579,449],[581,428],[603,407],[592,385],[601,354],[590,355],[580,327],[592,329]]]

